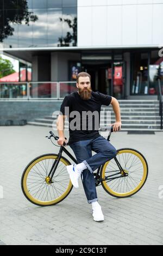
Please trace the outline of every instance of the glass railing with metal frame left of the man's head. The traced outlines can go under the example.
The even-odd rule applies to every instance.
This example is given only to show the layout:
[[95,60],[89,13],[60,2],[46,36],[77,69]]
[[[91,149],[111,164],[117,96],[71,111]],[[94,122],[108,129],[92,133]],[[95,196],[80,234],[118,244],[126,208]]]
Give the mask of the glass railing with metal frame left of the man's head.
[[76,92],[76,82],[3,82],[0,100],[60,100]]

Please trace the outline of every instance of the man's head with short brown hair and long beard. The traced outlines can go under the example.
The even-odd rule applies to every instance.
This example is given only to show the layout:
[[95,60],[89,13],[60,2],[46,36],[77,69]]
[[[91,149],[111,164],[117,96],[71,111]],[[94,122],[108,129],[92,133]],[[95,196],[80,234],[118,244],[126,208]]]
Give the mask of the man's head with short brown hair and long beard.
[[79,89],[79,95],[83,100],[89,100],[91,97],[91,82],[88,76],[79,77],[79,81],[77,83],[77,88]]

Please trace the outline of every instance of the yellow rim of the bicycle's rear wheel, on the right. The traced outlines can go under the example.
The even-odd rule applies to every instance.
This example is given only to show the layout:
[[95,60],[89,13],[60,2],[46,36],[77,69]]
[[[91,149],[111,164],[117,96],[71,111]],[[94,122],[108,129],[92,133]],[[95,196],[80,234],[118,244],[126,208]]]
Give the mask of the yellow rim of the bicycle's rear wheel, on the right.
[[[139,159],[140,159],[140,161],[142,163],[142,167],[143,167],[143,174],[142,174],[142,178],[141,178],[140,184],[137,185],[133,190],[131,190],[129,192],[126,192],[126,193],[116,192],[116,191],[112,190],[109,187],[109,182],[102,181],[102,184],[103,184],[105,190],[108,191],[113,196],[117,196],[117,197],[127,197],[127,196],[131,196],[131,194],[136,193],[143,186],[143,184],[144,184],[144,182],[146,180],[146,177],[147,177],[147,164],[146,164],[146,161],[143,159],[143,157],[139,153],[137,153],[136,151],[130,150],[130,149],[124,149],[124,150],[118,151],[117,156],[120,155],[120,154],[123,154],[123,153],[130,153],[130,154],[134,154],[135,156],[139,157]],[[108,162],[106,162],[104,164],[104,167],[102,169],[102,179],[104,179],[105,176],[106,176],[105,175],[105,171],[106,171],[106,167],[108,166],[109,163],[110,163],[110,161],[108,161]],[[123,166],[122,166],[122,168],[123,168]],[[127,177],[124,177],[124,179],[126,179],[126,178]]]

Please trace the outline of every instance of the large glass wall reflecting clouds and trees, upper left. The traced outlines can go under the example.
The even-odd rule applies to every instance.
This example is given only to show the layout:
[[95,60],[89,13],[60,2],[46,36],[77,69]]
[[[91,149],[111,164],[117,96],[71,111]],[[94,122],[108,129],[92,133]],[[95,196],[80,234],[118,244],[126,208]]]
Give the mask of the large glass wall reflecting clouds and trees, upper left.
[[[77,45],[77,0],[0,0],[4,47]],[[1,11],[5,3],[4,11]]]

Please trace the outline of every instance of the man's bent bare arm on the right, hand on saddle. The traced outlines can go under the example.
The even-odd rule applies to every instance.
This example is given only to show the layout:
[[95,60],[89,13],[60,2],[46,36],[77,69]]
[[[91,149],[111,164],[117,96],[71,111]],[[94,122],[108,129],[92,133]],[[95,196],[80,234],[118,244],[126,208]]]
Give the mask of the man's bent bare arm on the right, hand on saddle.
[[112,109],[114,110],[115,116],[116,116],[116,122],[114,124],[111,124],[113,126],[113,131],[118,131],[118,127],[120,127],[121,130],[121,113],[120,113],[120,105],[118,101],[115,99],[115,97],[112,97],[110,104],[112,105]]

